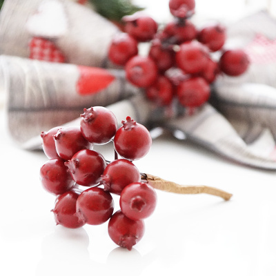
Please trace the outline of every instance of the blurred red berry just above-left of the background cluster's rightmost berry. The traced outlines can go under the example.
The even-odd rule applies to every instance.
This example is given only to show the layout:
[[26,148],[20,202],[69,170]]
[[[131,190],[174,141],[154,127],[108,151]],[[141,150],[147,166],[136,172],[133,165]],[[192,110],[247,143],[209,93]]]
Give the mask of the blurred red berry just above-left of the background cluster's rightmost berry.
[[220,50],[226,40],[226,28],[221,24],[204,27],[200,30],[198,41],[204,43],[212,52]]

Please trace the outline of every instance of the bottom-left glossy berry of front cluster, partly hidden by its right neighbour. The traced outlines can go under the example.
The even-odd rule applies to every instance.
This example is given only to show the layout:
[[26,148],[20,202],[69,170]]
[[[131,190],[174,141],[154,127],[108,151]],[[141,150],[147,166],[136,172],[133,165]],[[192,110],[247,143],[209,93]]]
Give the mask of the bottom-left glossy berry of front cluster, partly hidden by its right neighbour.
[[81,190],[72,189],[57,197],[55,208],[52,209],[57,224],[66,228],[79,228],[86,223],[76,211],[77,198],[80,194]]

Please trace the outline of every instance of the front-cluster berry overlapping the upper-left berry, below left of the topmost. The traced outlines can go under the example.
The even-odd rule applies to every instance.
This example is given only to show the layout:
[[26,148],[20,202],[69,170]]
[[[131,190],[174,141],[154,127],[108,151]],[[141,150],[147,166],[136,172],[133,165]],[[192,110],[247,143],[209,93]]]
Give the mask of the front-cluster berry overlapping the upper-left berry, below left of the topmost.
[[54,135],[57,154],[64,160],[69,160],[79,150],[92,145],[81,134],[80,128],[69,126],[60,128]]

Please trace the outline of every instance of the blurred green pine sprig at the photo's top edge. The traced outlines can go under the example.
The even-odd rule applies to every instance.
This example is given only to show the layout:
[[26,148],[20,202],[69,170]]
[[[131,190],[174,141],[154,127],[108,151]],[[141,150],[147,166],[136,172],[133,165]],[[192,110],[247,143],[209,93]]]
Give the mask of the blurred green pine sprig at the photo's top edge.
[[89,0],[95,10],[111,21],[120,21],[125,15],[133,14],[144,8],[135,6],[131,0]]

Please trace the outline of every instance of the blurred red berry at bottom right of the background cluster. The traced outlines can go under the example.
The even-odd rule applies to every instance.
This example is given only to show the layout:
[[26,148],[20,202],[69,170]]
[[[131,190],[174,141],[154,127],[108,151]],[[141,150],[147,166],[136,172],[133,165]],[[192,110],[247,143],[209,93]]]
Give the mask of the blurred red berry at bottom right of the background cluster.
[[208,101],[210,86],[201,77],[193,77],[179,83],[177,97],[182,106],[195,108]]

